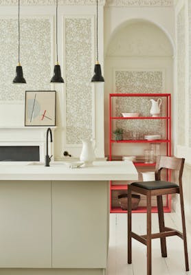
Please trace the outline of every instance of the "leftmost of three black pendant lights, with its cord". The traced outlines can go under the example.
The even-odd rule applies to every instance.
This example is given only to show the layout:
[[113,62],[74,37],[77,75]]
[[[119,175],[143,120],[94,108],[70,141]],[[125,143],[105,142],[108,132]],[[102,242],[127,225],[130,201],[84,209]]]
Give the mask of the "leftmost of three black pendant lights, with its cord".
[[14,80],[12,80],[12,83],[14,84],[24,84],[26,83],[25,78],[23,78],[23,68],[21,66],[20,63],[20,0],[19,1],[19,12],[18,12],[18,30],[19,30],[19,48],[18,48],[18,52],[19,52],[19,64],[18,66],[16,66],[16,76],[14,78]]

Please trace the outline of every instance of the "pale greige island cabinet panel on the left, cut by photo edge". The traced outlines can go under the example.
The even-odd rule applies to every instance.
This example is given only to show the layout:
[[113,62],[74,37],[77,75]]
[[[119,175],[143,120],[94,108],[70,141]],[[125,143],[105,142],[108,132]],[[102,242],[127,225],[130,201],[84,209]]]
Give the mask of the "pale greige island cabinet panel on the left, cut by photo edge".
[[0,267],[51,267],[51,182],[0,181]]

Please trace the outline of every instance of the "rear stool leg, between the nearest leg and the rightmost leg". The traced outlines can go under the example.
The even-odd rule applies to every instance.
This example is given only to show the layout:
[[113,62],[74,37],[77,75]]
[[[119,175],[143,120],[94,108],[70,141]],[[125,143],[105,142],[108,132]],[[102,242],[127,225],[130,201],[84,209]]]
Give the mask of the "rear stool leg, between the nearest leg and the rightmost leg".
[[[162,196],[157,196],[157,207],[158,207],[158,216],[159,216],[159,231],[164,232],[164,210],[163,210],[163,201]],[[161,239],[161,256],[167,257],[166,252],[166,238]]]

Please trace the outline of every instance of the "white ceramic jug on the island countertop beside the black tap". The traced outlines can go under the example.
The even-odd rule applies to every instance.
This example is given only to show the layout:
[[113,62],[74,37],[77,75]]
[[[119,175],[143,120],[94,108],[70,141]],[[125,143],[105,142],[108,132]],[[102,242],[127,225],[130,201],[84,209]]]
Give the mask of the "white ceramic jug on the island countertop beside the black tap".
[[92,166],[95,160],[93,140],[82,140],[82,152],[80,161],[84,162],[84,166]]

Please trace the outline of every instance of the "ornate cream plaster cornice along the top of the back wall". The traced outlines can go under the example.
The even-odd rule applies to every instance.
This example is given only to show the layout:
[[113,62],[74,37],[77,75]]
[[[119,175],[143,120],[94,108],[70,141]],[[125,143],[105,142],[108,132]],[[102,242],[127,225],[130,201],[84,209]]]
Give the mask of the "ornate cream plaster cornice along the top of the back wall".
[[[111,7],[170,7],[174,0],[98,0]],[[21,0],[21,5],[55,5],[56,0]],[[95,5],[95,0],[59,0],[59,5]],[[0,5],[18,5],[18,0],[1,0]]]

